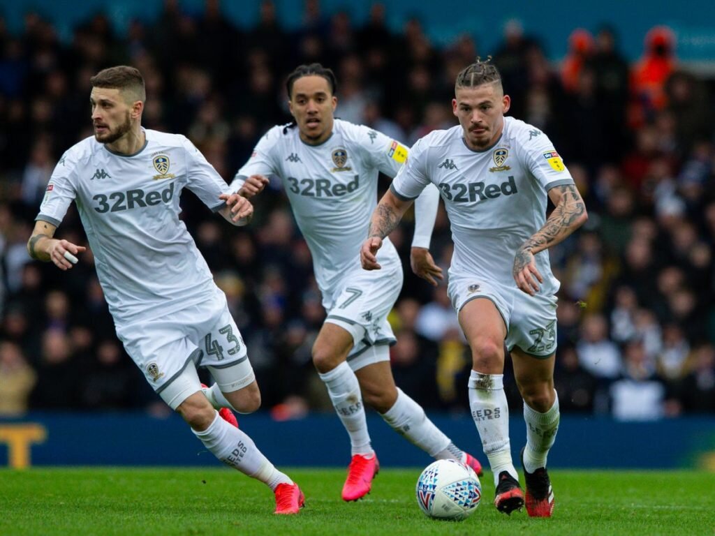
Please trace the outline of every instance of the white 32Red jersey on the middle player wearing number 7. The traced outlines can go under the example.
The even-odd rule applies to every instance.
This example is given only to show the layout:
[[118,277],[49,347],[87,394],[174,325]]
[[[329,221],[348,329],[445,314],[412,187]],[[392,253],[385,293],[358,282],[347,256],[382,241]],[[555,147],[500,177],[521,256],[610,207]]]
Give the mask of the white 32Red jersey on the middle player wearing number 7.
[[[378,172],[395,177],[406,157],[406,147],[368,126],[335,119],[330,138],[315,146],[302,142],[297,126],[279,125],[260,139],[232,189],[254,174],[281,179],[325,295],[362,269],[360,245],[377,206]],[[378,261],[383,267],[400,264],[389,239]]]

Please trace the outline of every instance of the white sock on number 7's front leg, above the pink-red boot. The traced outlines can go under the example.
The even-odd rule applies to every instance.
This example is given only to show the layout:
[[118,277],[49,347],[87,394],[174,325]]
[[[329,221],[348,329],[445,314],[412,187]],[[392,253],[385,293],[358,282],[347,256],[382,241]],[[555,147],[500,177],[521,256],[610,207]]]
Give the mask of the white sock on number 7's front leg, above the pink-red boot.
[[327,394],[330,395],[337,416],[340,417],[342,425],[350,435],[352,455],[374,454],[375,451],[370,445],[370,434],[368,434],[368,422],[365,420],[365,407],[360,394],[360,384],[355,372],[352,372],[350,365],[343,361],[330,372],[319,375],[320,379],[325,382]]

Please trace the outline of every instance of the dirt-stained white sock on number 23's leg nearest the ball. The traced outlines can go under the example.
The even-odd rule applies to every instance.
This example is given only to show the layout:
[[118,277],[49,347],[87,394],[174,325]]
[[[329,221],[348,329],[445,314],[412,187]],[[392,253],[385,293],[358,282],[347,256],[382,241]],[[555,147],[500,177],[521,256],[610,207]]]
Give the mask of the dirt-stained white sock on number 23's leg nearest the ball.
[[504,374],[481,374],[473,370],[469,376],[469,407],[494,475],[494,485],[498,484],[502,471],[519,480],[511,460]]

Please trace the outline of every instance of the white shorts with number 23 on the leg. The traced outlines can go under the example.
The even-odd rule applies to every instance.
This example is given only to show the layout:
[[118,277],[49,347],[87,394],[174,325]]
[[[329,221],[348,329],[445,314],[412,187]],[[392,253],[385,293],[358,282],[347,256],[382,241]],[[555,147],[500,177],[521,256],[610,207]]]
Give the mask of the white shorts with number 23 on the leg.
[[516,286],[478,276],[450,274],[447,290],[457,312],[473,299],[489,299],[506,325],[506,347],[518,347],[534,357],[548,357],[556,352],[556,307],[558,298],[551,294],[529,296]]

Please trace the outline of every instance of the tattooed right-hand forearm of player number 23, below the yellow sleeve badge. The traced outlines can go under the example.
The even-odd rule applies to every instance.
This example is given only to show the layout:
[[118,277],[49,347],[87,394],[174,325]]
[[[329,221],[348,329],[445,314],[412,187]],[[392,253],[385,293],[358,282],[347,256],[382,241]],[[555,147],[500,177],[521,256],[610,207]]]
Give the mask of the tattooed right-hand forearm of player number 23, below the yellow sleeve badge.
[[558,244],[569,234],[586,222],[586,204],[576,186],[566,184],[557,187],[561,193],[556,208],[553,209],[546,223],[531,238],[521,245],[520,251],[538,253],[548,247]]

